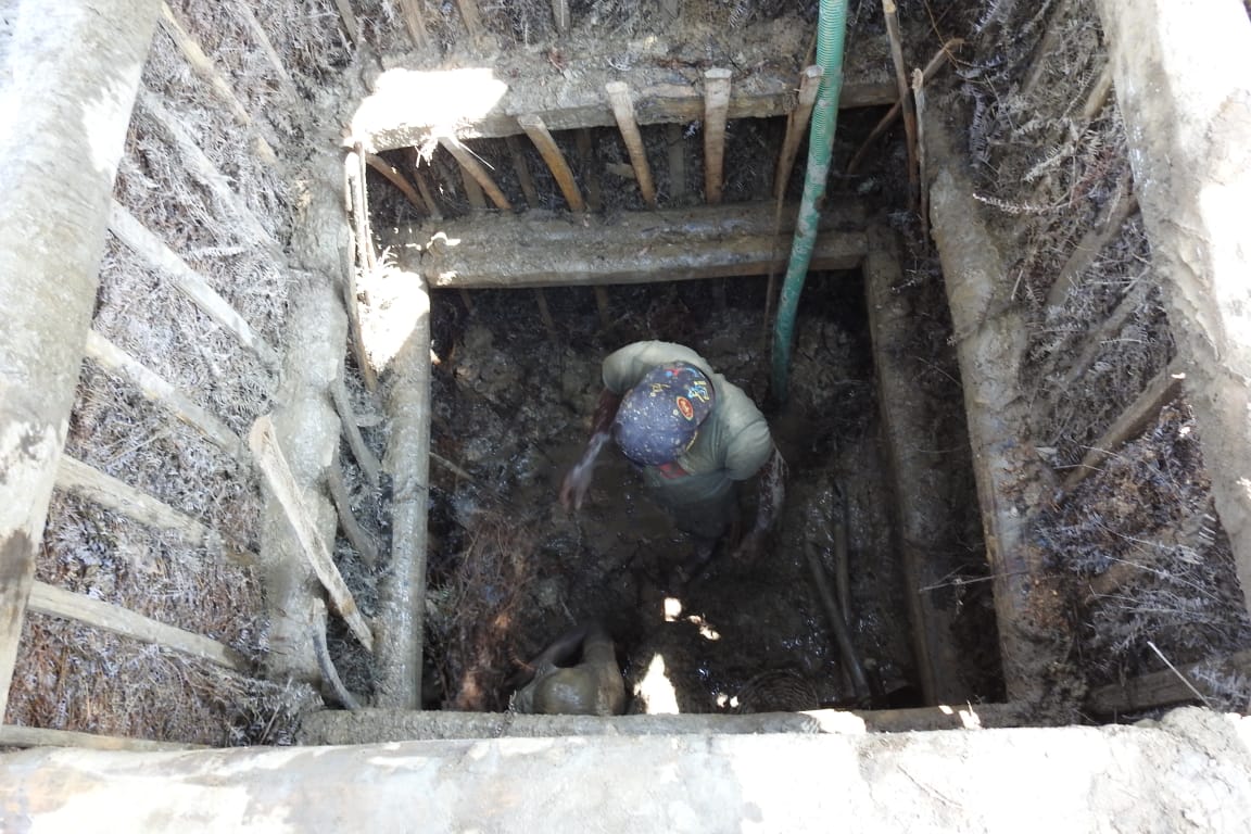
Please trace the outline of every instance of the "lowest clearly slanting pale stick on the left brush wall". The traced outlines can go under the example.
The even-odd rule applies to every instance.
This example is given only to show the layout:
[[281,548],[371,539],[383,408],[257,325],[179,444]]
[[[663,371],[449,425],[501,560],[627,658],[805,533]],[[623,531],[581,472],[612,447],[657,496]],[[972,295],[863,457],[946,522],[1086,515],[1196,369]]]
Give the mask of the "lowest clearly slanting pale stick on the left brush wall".
[[141,643],[173,649],[244,675],[251,674],[251,663],[224,643],[48,583],[36,581],[31,586],[30,610],[36,614],[85,623]]

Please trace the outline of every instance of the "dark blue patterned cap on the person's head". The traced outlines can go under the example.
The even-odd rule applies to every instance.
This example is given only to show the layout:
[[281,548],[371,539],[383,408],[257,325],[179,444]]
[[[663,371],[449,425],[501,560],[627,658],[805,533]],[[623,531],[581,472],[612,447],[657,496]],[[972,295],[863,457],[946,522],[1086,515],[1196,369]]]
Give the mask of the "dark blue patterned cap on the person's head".
[[613,436],[626,456],[644,466],[676,460],[712,410],[712,383],[689,363],[653,368],[626,391]]

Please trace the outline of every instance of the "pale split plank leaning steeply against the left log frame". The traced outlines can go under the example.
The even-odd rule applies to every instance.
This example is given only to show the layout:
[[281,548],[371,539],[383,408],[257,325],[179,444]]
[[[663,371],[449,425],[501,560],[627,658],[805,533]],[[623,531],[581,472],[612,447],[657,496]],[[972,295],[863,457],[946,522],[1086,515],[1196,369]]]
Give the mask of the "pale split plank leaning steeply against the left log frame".
[[334,559],[325,540],[313,523],[309,509],[295,484],[291,469],[286,464],[283,448],[274,434],[274,425],[269,415],[258,418],[253,424],[251,433],[248,435],[248,445],[256,456],[256,464],[265,475],[265,483],[283,505],[286,519],[290,521],[291,529],[295,531],[295,536],[304,550],[304,556],[308,559],[309,565],[311,565],[313,573],[317,574],[317,578],[325,588],[330,603],[339,613],[339,616],[347,621],[348,629],[360,641],[360,645],[373,651],[374,635],[369,628],[369,623],[365,621],[365,618],[357,608],[357,600],[343,581],[343,576],[334,565]]

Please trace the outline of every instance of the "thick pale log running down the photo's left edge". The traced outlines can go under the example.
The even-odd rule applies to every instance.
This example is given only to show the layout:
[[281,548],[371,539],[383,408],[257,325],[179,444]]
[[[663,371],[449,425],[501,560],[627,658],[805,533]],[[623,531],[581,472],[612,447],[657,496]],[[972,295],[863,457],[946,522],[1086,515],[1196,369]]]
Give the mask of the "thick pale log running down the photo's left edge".
[[[0,123],[0,720],[91,323],[154,0],[23,3]],[[83,125],[90,104],[90,131]],[[81,164],[68,165],[66,160]],[[51,245],[55,241],[55,245]]]

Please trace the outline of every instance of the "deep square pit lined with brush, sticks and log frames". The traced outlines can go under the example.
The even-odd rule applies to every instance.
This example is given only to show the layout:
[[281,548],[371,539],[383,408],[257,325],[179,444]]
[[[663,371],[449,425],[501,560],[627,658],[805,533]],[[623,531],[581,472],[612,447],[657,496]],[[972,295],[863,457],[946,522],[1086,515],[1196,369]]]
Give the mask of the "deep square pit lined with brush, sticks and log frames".
[[[159,240],[145,248],[114,210],[90,321],[223,426],[206,434],[191,410],[154,401],[133,366],[89,344],[68,421],[71,461],[58,474],[33,556],[41,589],[141,614],[228,651],[214,661],[143,629],[114,634],[40,598],[24,621],[8,724],[290,743],[301,716],[340,705],[311,660],[317,620],[305,623],[304,608],[289,623],[273,616],[281,606],[258,563],[275,529],[290,534],[285,516],[266,510],[245,439],[254,420],[286,408],[288,453],[317,445],[301,444],[301,431],[324,445],[304,461],[305,494],[324,535],[337,536],[334,564],[355,604],[378,618],[397,485],[385,471],[374,485],[350,439],[335,438],[337,418],[305,425],[332,414],[329,389],[294,396],[281,385],[309,345],[329,345],[334,361],[318,373],[342,374],[350,413],[339,415],[393,469],[408,453],[385,403],[394,374],[363,361],[368,350],[339,316],[385,318],[398,296],[372,281],[412,283],[415,273],[430,286],[437,359],[423,505],[428,593],[415,605],[425,619],[427,709],[507,710],[527,661],[592,618],[617,643],[629,711],[668,708],[661,695],[642,695],[657,659],[682,713],[1011,701],[1023,705],[1015,723],[1128,720],[1197,700],[1151,678],[1170,666],[1206,703],[1246,706],[1251,675],[1238,653],[1251,624],[1205,460],[1230,446],[1200,425],[1192,406],[1206,400],[1175,379],[1182,325],[1170,319],[1138,208],[1095,4],[899,3],[906,63],[929,68],[921,125],[952,140],[940,153],[940,131],[922,138],[929,155],[918,179],[933,185],[945,166],[967,175],[967,225],[987,231],[963,249],[995,249],[1000,259],[982,306],[952,298],[963,276],[943,275],[937,234],[913,203],[921,195],[909,196],[907,134],[883,123],[897,93],[881,9],[852,4],[827,226],[802,294],[784,404],[769,391],[769,325],[806,138],[784,188],[774,180],[811,61],[812,9],[692,3],[682,4],[681,25],[657,28],[661,4],[575,4],[572,30],[558,36],[547,3],[484,9],[475,25],[485,31],[475,33],[458,18],[475,4],[418,1],[402,4],[427,13],[428,41],[414,50],[392,4],[357,4],[359,40],[338,6],[309,14],[300,5],[259,21],[293,70],[284,80],[229,8],[171,4],[210,60],[228,68],[254,123],[189,70],[168,24],[153,40],[113,198]],[[514,98],[502,99],[507,108],[460,99],[455,141],[440,144],[414,116],[419,96],[382,95],[393,70],[445,79],[484,68],[490,89],[507,86]],[[719,201],[706,179],[703,110],[707,73],[718,69],[733,83]],[[633,85],[654,206],[605,104],[605,84],[619,78]],[[375,95],[385,106],[364,119]],[[584,211],[570,208],[565,184],[523,131],[518,116],[535,113]],[[241,124],[251,125],[246,143]],[[209,138],[203,149],[191,125]],[[279,161],[264,148],[276,148]],[[453,149],[478,160],[507,208]],[[357,163],[347,171],[345,158]],[[342,186],[353,176],[364,178],[372,231],[349,243],[358,220],[343,205],[355,198]],[[171,271],[161,246],[183,266]],[[871,258],[883,253],[886,273]],[[290,361],[224,329],[171,280],[185,271],[203,274],[273,356]],[[458,283],[455,273],[477,283]],[[317,276],[333,278],[347,310],[332,299],[333,310],[310,323],[296,308]],[[991,346],[1020,340],[1018,363],[961,353],[995,328],[1005,335]],[[689,543],[618,454],[602,456],[580,513],[557,500],[585,439],[599,361],[636,339],[689,345],[741,385],[766,409],[791,466],[786,514],[767,550],[751,564],[716,560],[677,595],[681,609],[666,609],[668,574]],[[978,405],[970,391],[1003,369],[996,463],[1011,463],[1005,469],[1017,480],[980,491],[985,449],[970,448],[967,413]],[[1117,429],[1142,403],[1137,421]],[[75,460],[86,470],[73,469]],[[357,538],[333,530],[327,473],[339,468],[363,528]],[[118,499],[114,481],[101,486],[88,470],[213,535],[181,516],[135,520],[136,500]],[[1020,564],[995,560],[996,518],[1018,525]],[[838,573],[841,521],[869,693],[848,683],[809,570],[811,554],[831,578]],[[1001,593],[1018,574],[1028,585]],[[291,584],[305,603],[322,596],[315,579]],[[1005,599],[1026,600],[1007,609],[1007,639],[996,621]],[[379,661],[334,614],[328,630],[348,689],[380,701]],[[1012,649],[1008,673],[1003,645]]]

